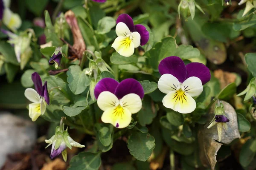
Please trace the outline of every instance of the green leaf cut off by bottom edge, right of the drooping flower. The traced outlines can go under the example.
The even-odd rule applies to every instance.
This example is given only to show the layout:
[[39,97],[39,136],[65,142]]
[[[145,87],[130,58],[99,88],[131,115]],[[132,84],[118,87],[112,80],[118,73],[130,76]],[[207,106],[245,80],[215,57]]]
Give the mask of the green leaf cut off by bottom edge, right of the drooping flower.
[[71,159],[68,170],[98,170],[100,165],[100,153],[80,152]]

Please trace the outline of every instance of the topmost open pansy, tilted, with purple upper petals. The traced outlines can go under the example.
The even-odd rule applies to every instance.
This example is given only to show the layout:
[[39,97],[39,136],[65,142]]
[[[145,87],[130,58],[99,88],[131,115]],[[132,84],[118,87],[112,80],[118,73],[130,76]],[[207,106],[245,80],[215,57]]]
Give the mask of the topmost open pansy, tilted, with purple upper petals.
[[130,57],[134,48],[145,45],[149,39],[149,32],[143,25],[135,25],[128,14],[121,14],[116,20],[116,35],[112,47],[122,56]]

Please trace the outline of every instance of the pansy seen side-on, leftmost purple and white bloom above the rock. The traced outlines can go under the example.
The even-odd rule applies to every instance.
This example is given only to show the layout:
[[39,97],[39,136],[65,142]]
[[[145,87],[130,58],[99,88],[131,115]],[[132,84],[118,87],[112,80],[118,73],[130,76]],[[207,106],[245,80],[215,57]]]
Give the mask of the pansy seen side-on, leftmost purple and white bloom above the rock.
[[49,93],[47,90],[47,82],[42,85],[42,80],[38,73],[32,74],[32,81],[34,82],[35,89],[27,88],[25,96],[29,99],[29,117],[32,121],[36,121],[40,115],[43,115],[46,110],[46,104],[49,105]]

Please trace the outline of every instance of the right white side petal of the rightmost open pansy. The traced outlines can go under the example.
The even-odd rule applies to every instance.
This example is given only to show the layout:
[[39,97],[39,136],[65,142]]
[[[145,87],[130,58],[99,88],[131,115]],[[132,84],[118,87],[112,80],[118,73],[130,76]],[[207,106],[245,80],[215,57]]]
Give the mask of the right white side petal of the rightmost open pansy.
[[198,77],[189,77],[181,85],[182,91],[185,91],[190,96],[195,97],[204,90],[201,79]]

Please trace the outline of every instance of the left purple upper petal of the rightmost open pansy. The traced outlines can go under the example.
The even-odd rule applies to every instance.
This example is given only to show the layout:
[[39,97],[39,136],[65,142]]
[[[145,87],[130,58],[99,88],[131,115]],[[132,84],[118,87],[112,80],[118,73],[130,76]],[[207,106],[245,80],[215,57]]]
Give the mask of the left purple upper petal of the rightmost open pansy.
[[181,83],[186,79],[186,65],[180,57],[166,57],[160,62],[158,70],[161,75],[172,74]]

